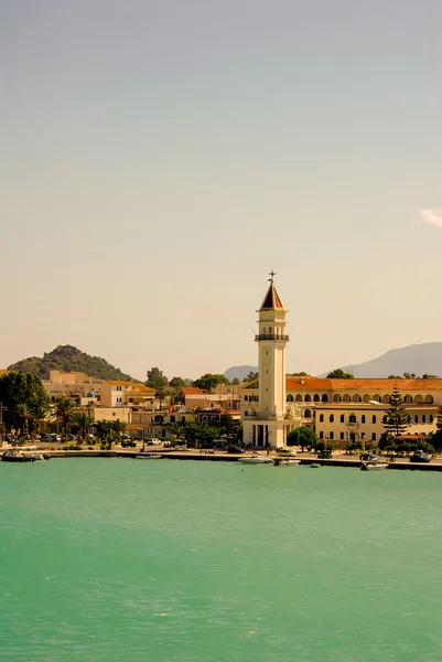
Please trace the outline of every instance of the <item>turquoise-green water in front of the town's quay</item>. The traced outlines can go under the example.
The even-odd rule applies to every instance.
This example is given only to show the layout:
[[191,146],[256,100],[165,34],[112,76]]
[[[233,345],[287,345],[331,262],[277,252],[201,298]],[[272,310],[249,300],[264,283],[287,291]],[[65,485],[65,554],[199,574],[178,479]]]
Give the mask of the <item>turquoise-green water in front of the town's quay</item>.
[[442,476],[0,462],[0,659],[442,659]]

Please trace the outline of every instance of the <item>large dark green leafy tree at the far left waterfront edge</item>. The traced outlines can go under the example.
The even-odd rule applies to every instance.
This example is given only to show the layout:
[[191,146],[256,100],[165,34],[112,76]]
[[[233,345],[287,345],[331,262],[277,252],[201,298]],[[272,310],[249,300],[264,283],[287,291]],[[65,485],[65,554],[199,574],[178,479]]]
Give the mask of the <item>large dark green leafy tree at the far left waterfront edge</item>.
[[10,372],[0,377],[0,403],[7,429],[20,428],[19,405],[25,405],[32,417],[44,418],[50,408],[47,393],[37,375]]

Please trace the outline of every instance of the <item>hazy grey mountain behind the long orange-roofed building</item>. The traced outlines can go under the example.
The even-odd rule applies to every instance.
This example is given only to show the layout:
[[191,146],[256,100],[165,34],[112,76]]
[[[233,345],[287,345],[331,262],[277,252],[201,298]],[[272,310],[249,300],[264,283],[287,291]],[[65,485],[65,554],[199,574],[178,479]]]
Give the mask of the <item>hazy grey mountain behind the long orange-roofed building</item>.
[[[389,377],[390,375],[403,375],[406,372],[414,373],[417,376],[424,374],[442,376],[442,342],[408,345],[390,350],[365,363],[339,367],[344,372],[351,372],[355,377]],[[327,374],[324,373],[321,376]]]

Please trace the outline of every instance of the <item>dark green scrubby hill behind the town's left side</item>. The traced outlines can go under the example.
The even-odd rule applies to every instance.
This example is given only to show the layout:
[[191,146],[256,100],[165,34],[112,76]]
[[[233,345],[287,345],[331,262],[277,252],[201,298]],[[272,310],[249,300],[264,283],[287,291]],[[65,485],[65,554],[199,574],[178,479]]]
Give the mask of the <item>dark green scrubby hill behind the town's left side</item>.
[[72,345],[58,345],[43,357],[30,356],[18,361],[8,367],[8,370],[21,370],[33,375],[39,375],[42,380],[48,380],[51,370],[66,370],[84,372],[90,377],[99,380],[123,380],[125,382],[137,382],[130,375],[114,367],[105,359],[90,356],[80,352]]

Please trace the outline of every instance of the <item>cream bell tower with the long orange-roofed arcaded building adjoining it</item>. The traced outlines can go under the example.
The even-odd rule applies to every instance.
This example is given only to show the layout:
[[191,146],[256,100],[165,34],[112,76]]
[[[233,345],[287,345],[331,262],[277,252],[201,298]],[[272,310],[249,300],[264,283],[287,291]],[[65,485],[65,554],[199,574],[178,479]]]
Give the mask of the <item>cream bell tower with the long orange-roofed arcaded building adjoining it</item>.
[[300,425],[314,427],[320,439],[344,446],[360,441],[375,446],[394,391],[403,398],[410,417],[407,433],[435,431],[442,405],[442,378],[332,380],[285,375],[285,313],[272,280],[258,311],[259,378],[241,388],[244,441],[281,447]]

